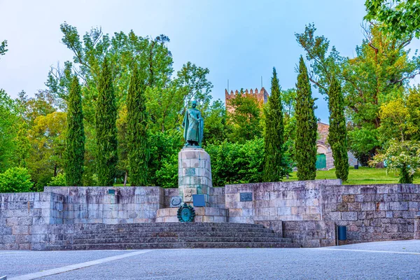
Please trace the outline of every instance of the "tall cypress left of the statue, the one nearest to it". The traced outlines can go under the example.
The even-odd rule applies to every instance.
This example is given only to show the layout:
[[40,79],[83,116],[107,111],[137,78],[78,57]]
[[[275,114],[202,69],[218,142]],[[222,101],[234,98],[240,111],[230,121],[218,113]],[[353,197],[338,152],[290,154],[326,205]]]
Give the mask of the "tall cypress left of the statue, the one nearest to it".
[[147,185],[146,84],[134,62],[127,96],[128,174],[131,186]]

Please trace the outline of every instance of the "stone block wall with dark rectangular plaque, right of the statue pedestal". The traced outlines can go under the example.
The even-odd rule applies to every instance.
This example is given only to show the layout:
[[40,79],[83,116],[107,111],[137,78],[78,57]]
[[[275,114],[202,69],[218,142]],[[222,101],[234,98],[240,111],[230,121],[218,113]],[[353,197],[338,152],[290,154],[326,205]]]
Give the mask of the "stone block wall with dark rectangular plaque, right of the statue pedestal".
[[[340,180],[316,180],[227,185],[229,221],[321,221],[321,186],[340,184]],[[241,193],[251,193],[252,201],[241,202]]]

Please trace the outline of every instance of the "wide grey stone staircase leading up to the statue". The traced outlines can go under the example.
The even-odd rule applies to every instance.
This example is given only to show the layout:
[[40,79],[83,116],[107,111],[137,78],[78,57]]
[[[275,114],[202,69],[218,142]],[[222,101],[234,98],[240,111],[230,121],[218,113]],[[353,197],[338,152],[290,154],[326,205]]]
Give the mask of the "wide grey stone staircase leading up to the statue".
[[41,250],[300,247],[262,225],[245,223],[85,224],[64,232]]

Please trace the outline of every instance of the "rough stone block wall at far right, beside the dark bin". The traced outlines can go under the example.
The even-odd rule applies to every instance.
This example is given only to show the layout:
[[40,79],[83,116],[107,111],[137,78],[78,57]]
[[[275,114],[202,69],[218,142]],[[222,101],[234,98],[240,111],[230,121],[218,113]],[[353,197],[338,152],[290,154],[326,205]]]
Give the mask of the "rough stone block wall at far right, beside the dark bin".
[[323,186],[322,212],[324,221],[346,225],[344,243],[412,239],[420,185]]

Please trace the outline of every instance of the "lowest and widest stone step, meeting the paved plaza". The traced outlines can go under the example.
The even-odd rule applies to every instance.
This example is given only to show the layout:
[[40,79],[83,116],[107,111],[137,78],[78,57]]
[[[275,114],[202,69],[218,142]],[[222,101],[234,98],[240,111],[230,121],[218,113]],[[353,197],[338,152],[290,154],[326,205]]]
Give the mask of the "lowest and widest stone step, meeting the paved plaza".
[[176,242],[176,243],[117,243],[75,244],[47,246],[45,250],[137,250],[172,248],[300,248],[299,244],[286,242]]

